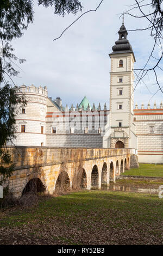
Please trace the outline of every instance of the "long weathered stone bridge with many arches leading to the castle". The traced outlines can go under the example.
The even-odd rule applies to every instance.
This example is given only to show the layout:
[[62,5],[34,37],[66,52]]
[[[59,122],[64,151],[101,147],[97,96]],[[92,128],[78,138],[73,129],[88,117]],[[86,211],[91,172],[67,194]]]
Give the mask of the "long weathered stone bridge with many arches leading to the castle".
[[[49,194],[58,187],[101,189],[130,168],[133,149],[9,147],[15,163],[9,187],[15,196],[29,191],[32,181]],[[134,151],[135,152],[135,151]]]

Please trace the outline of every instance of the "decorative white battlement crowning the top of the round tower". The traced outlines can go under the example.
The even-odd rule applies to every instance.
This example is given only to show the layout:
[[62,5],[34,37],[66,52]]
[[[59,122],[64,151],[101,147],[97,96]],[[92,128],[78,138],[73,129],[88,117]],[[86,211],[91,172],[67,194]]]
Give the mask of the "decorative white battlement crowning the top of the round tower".
[[16,93],[35,93],[35,94],[41,94],[48,96],[47,87],[41,87],[38,88],[35,87],[33,84],[31,86],[25,86],[24,84],[20,87],[15,87]]

